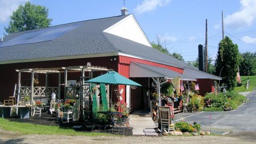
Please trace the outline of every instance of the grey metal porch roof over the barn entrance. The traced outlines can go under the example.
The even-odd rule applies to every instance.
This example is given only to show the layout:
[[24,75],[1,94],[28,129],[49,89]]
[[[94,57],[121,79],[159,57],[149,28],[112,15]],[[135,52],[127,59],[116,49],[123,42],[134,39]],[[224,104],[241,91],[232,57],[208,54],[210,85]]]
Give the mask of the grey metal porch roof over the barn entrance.
[[165,77],[167,79],[173,79],[177,76],[180,76],[180,80],[182,81],[196,81],[195,78],[179,74],[167,68],[149,66],[136,62],[131,62],[130,65],[130,77]]

